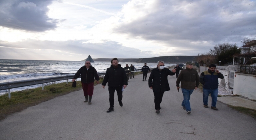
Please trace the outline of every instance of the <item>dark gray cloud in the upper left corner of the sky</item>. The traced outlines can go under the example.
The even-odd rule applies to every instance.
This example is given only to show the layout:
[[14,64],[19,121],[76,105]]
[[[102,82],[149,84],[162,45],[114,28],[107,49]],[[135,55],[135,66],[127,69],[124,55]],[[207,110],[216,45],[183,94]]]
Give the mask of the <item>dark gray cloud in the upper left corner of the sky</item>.
[[1,0],[0,26],[43,32],[53,30],[59,22],[47,16],[47,6],[53,0]]

